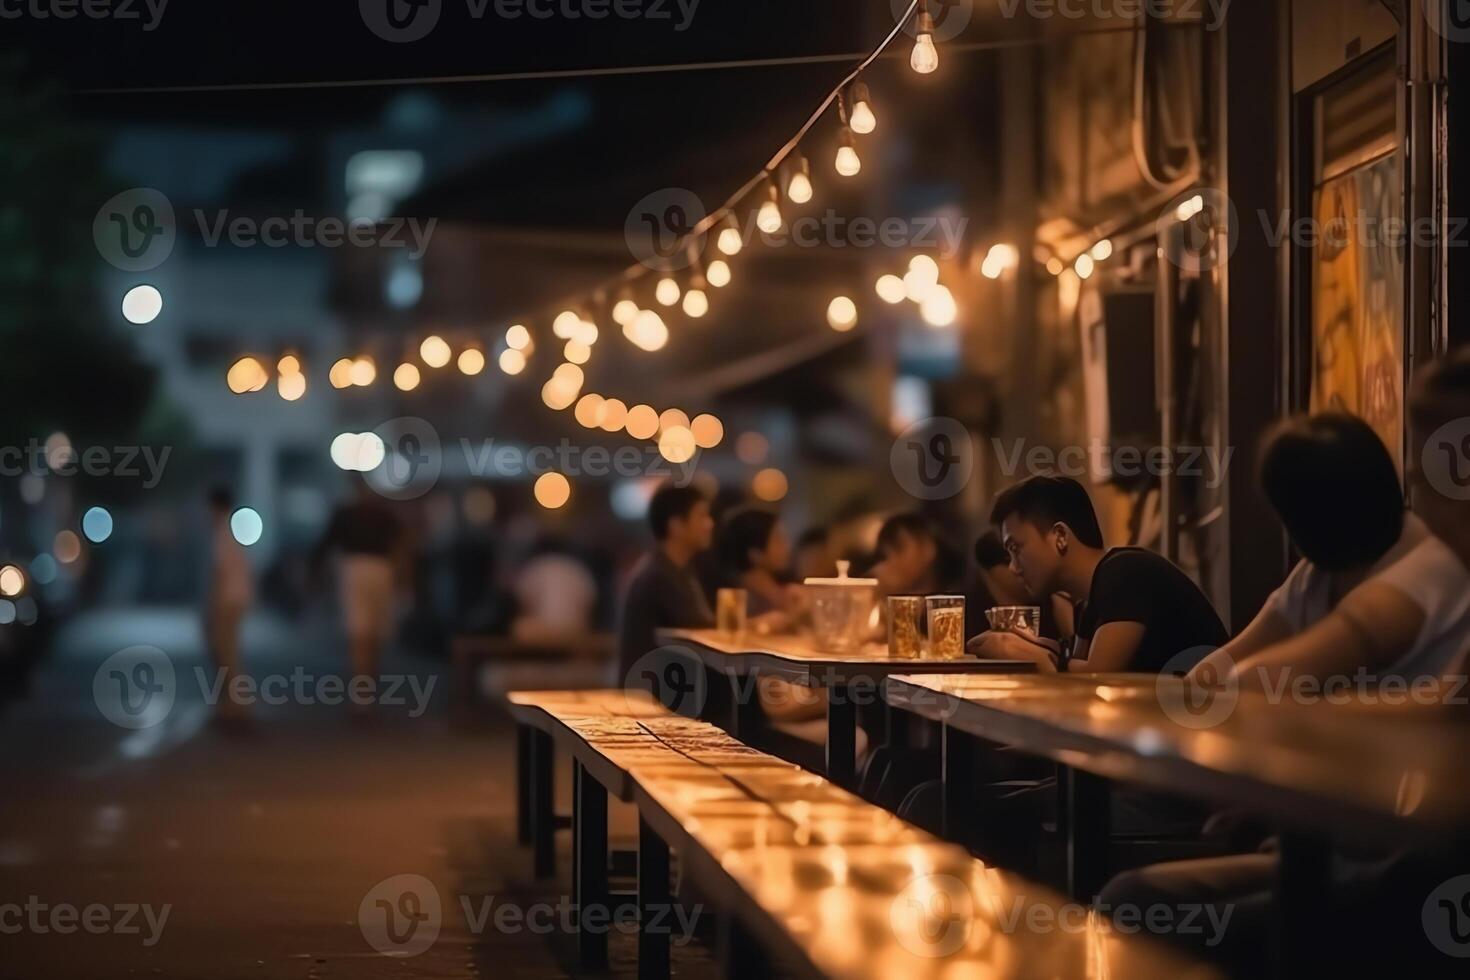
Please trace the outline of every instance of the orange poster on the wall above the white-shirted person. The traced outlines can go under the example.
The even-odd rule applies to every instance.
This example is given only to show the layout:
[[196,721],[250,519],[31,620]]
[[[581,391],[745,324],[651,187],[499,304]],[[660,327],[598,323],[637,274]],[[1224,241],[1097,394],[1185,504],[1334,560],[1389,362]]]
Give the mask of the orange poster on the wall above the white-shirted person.
[[1404,251],[1398,154],[1317,191],[1313,263],[1313,411],[1348,411],[1402,469]]

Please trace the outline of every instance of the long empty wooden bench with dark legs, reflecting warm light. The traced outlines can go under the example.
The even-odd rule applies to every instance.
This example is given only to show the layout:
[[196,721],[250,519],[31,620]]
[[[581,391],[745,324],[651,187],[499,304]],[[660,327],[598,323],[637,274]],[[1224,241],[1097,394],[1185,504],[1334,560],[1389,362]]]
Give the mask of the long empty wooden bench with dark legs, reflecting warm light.
[[[576,760],[579,908],[607,899],[613,792],[639,810],[639,923],[672,902],[673,846],[739,926],[732,954],[753,951],[748,933],[828,977],[1214,976],[651,698],[520,692],[512,711]],[[638,942],[639,976],[666,977],[667,936],[641,929]],[[588,962],[606,962],[606,936],[584,930],[579,943]]]

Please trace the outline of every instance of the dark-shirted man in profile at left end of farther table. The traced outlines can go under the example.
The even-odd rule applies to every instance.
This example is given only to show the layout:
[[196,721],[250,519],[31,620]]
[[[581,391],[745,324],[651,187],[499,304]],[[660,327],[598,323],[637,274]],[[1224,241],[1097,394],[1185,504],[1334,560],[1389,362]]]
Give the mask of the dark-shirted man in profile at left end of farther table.
[[634,569],[617,616],[617,664],[623,677],[657,646],[659,629],[707,629],[714,613],[691,563],[710,547],[710,501],[694,486],[660,486],[648,501],[654,548]]

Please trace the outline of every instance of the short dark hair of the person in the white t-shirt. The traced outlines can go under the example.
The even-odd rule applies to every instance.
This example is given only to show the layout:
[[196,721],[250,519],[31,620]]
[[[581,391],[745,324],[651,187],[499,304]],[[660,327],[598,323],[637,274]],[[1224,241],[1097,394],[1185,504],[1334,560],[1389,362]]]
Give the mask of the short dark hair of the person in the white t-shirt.
[[1261,442],[1258,478],[1297,550],[1327,570],[1373,564],[1404,532],[1404,486],[1367,422],[1294,416]]

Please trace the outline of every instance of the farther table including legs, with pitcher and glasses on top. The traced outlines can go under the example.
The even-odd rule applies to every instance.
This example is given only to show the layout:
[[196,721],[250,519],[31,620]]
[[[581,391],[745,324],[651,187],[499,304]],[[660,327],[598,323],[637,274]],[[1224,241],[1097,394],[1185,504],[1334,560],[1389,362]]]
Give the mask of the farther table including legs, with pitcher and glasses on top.
[[747,738],[759,716],[759,696],[753,686],[739,686],[744,677],[776,677],[803,688],[820,688],[826,695],[826,777],[853,789],[857,785],[857,702],[870,698],[882,702],[882,685],[894,674],[1014,674],[1035,671],[1035,664],[1016,660],[895,660],[881,644],[857,651],[819,649],[806,636],[747,636],[731,639],[711,629],[659,630],[664,649],[678,648],[697,660],[710,674],[735,685],[734,711],[729,718],[736,738]]

